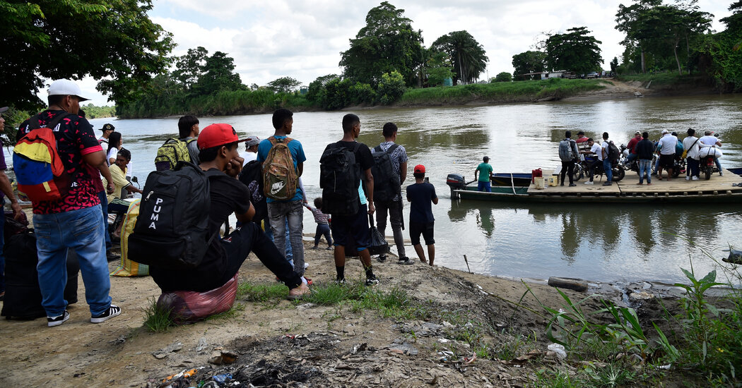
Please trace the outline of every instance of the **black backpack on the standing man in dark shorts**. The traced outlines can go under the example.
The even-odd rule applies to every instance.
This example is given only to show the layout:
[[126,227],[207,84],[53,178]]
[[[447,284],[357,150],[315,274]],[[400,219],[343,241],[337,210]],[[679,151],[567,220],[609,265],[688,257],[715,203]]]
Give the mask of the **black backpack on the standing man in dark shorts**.
[[320,187],[322,213],[354,215],[358,213],[358,185],[361,183],[361,165],[355,161],[355,152],[338,143],[328,144],[320,158]]

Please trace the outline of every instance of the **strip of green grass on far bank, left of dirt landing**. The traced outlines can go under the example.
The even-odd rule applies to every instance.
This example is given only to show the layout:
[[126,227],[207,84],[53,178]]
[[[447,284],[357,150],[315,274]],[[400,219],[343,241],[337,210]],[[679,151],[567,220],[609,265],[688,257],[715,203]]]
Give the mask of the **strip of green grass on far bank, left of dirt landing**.
[[598,79],[562,79],[495,82],[454,87],[407,89],[398,104],[456,104],[468,101],[525,102],[542,98],[563,98],[589,90],[600,90],[605,82]]

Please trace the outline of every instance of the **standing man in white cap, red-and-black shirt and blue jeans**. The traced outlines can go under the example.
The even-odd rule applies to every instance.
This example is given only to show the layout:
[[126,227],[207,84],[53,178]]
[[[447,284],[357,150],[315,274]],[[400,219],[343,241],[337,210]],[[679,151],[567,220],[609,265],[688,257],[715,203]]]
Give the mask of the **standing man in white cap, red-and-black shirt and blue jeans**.
[[68,115],[53,128],[56,146],[71,183],[68,195],[59,201],[33,201],[33,226],[36,229],[36,247],[39,251],[39,285],[42,306],[47,313],[47,326],[55,327],[70,318],[63,297],[67,281],[67,252],[75,250],[85,282],[85,299],[91,311],[91,322],[98,324],[121,314],[121,308],[111,304],[111,281],[105,259],[103,213],[93,187],[91,170],[95,167],[108,181],[107,191],[113,193],[114,184],[105,153],[85,118],[77,115],[80,88],[73,81],[59,79],[49,87],[49,108],[24,121],[16,138],[22,138],[34,127],[44,127],[59,115]]

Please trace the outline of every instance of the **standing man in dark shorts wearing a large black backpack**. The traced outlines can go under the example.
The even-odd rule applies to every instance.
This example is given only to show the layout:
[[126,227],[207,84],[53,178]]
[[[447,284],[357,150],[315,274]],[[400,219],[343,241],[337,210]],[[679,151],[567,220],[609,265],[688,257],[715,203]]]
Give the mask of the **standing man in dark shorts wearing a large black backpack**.
[[[332,215],[330,230],[332,230],[332,236],[335,237],[335,270],[338,272],[335,281],[345,283],[345,249],[347,246],[355,246],[355,250],[361,257],[361,263],[364,265],[364,270],[366,271],[366,285],[372,286],[378,284],[378,279],[371,267],[371,254],[368,250],[368,246],[371,243],[368,221],[370,215],[375,211],[373,204],[374,181],[371,173],[373,156],[366,144],[355,141],[360,133],[361,119],[351,113],[343,116],[343,138],[337,143],[328,144],[322,154],[323,156],[328,155],[331,150],[344,147],[355,156],[355,164],[360,167],[361,181],[366,186],[364,190],[364,184],[361,184],[361,181],[359,181],[358,189],[352,189],[353,191],[358,190],[358,211],[351,215],[340,215],[334,212],[332,210],[334,207],[328,198],[325,198],[326,191],[331,190],[328,187],[324,187],[322,206]],[[354,184],[353,187],[355,187],[355,182],[350,183]],[[353,196],[355,198],[355,195]],[[355,208],[356,204],[354,203],[352,205]]]

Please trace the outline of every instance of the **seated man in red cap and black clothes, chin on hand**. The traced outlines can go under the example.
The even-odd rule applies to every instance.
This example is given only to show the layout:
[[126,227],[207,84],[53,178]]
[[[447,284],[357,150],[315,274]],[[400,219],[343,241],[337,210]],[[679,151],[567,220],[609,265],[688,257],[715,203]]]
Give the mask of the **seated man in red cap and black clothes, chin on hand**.
[[301,275],[294,272],[260,227],[250,222],[255,207],[250,203],[250,191],[237,179],[243,163],[237,144],[245,140],[237,138],[237,132],[229,124],[211,124],[201,131],[197,141],[201,170],[222,172],[209,178],[209,234],[216,234],[232,213],[242,222],[242,227],[226,238],[211,241],[203,261],[194,269],[172,270],[153,266],[150,267],[152,279],[162,292],[214,290],[234,277],[252,251],[289,287],[289,298],[309,293]]

